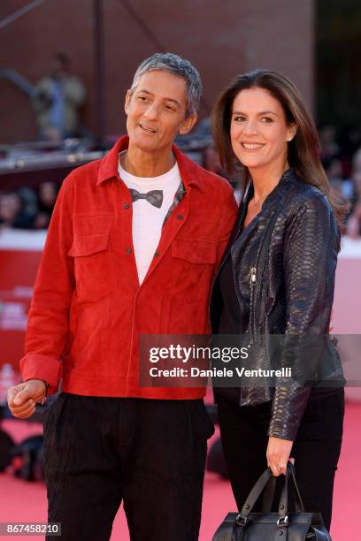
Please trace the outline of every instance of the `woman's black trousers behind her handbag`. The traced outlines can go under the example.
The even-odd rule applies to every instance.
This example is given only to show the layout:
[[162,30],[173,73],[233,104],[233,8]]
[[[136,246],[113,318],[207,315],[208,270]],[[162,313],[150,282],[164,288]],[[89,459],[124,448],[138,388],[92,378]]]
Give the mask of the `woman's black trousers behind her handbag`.
[[[241,510],[257,478],[267,467],[265,452],[271,403],[240,408],[224,396],[219,395],[217,401],[227,469],[234,499]],[[311,398],[291,452],[305,511],[319,511],[327,530],[331,524],[334,473],[341,452],[343,414],[343,389]],[[280,495],[282,477],[278,480],[276,496]],[[254,511],[259,512],[261,504],[259,499]]]

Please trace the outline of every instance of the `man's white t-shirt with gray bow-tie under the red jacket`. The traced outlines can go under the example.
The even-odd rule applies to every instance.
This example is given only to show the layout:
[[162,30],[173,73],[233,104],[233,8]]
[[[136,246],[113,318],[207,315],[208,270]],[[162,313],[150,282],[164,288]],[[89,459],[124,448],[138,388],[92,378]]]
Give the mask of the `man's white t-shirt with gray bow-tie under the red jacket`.
[[150,190],[163,190],[163,202],[160,209],[145,199],[138,199],[133,203],[133,246],[139,283],[142,284],[157,250],[165,216],[180,186],[180,170],[175,162],[173,168],[164,175],[143,178],[131,175],[119,163],[119,175],[128,188],[137,190],[141,194],[146,194]]

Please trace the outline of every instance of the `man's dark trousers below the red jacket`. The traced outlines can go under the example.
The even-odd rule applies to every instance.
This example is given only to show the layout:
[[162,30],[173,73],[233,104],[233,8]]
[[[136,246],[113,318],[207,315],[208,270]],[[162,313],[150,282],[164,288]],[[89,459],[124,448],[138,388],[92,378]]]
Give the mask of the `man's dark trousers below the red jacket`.
[[203,400],[62,393],[44,418],[49,522],[105,541],[123,501],[132,541],[196,541],[212,432]]

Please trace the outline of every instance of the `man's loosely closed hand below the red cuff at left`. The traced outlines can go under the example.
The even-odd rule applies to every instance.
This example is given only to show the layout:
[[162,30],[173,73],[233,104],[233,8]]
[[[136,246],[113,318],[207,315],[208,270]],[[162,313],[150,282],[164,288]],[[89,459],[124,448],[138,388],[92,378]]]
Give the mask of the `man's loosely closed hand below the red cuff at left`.
[[10,387],[7,400],[12,415],[18,419],[27,419],[35,412],[37,402],[46,396],[46,385],[42,379],[29,379],[25,383]]

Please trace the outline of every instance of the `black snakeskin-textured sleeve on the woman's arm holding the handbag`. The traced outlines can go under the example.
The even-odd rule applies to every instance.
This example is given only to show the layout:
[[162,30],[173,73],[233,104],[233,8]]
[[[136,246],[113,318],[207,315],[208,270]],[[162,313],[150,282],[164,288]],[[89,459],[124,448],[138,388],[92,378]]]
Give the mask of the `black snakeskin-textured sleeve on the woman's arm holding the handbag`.
[[[317,336],[328,335],[339,246],[334,212],[324,195],[314,193],[290,217],[283,248],[287,324],[280,365],[296,374],[317,365]],[[278,379],[269,436],[295,440],[310,392],[300,379]]]

